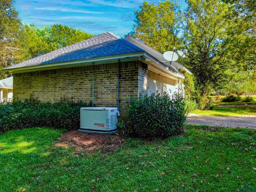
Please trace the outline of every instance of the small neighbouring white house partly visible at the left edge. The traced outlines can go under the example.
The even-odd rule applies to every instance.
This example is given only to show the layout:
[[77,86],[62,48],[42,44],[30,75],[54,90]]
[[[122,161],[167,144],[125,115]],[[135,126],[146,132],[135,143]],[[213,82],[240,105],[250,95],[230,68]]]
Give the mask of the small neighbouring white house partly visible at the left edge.
[[13,77],[0,80],[0,101],[12,101],[12,81]]

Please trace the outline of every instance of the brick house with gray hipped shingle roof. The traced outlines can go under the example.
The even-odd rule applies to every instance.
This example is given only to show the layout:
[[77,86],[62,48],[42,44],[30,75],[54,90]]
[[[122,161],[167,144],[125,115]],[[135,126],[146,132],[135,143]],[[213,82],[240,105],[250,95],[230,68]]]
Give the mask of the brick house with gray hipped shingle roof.
[[131,95],[183,91],[180,68],[131,36],[107,32],[4,71],[13,74],[13,100],[71,99],[122,109]]

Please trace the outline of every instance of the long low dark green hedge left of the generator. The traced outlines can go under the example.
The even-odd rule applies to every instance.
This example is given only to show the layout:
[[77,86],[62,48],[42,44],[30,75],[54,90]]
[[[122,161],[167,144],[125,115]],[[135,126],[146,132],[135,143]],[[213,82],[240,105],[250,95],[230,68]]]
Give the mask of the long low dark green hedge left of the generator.
[[13,129],[49,126],[56,129],[79,128],[84,102],[13,102],[0,104],[0,133]]

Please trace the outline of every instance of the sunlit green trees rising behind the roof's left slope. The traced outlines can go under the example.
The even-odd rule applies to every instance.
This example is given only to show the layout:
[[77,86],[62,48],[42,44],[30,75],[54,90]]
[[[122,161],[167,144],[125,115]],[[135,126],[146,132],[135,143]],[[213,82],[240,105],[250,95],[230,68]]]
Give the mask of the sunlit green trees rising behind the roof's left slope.
[[17,44],[21,47],[21,60],[37,57],[62,47],[83,41],[93,35],[61,24],[38,28],[25,25],[22,28]]

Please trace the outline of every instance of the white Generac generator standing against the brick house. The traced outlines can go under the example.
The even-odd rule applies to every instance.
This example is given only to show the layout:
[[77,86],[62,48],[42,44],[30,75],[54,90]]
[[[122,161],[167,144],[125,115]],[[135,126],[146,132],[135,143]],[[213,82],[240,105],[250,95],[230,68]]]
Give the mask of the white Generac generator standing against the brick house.
[[116,107],[82,107],[78,132],[114,133],[117,130],[118,116]]

